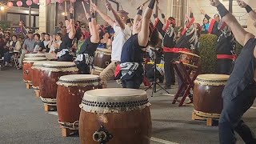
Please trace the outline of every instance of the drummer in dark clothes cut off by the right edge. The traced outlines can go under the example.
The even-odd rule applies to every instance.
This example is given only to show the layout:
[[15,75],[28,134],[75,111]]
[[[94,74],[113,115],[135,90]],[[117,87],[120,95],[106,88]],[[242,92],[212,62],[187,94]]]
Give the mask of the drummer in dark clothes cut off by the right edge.
[[[235,39],[244,46],[222,92],[223,110],[218,122],[219,141],[221,144],[235,144],[235,131],[245,143],[256,143],[253,132],[242,121],[242,115],[250,109],[256,97],[256,39],[254,34],[242,28],[219,0],[210,0],[210,4],[217,7],[223,22],[230,26]],[[241,1],[238,1],[238,5],[242,6]],[[244,7],[247,13],[254,13],[250,6]]]

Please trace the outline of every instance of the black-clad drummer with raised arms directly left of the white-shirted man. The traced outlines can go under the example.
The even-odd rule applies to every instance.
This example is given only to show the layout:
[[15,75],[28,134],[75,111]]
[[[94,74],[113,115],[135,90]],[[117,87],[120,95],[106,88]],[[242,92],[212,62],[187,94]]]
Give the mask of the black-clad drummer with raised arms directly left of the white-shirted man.
[[[91,6],[93,8],[95,4],[91,4]],[[78,74],[90,74],[90,65],[93,64],[94,52],[96,51],[100,40],[95,11],[91,12],[91,14],[87,13],[86,18],[89,23],[90,37],[82,43],[78,52],[78,57],[74,60],[78,67]]]

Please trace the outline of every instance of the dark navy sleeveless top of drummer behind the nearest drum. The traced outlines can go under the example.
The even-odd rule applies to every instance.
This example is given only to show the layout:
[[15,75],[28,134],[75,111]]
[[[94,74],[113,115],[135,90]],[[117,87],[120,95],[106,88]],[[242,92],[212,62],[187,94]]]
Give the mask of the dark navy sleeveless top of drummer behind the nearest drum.
[[132,35],[122,46],[121,63],[143,62],[143,46],[138,45],[138,34]]

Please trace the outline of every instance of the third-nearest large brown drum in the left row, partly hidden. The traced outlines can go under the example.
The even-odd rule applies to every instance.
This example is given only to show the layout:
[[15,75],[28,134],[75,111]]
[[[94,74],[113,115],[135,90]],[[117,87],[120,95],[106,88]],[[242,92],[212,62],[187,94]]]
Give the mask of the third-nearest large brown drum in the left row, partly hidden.
[[78,68],[74,62],[49,62],[39,69],[42,71],[39,83],[42,102],[48,106],[56,106],[56,82],[63,75],[78,74]]

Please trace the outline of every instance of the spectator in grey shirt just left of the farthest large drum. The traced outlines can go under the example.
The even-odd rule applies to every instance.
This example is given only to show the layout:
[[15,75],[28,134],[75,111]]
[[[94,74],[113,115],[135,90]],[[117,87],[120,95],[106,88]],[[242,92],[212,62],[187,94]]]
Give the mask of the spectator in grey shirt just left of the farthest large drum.
[[24,41],[22,46],[22,54],[21,58],[19,59],[19,67],[18,70],[22,69],[23,59],[25,58],[25,54],[30,54],[34,52],[34,38],[33,38],[33,31],[28,32],[28,38]]

